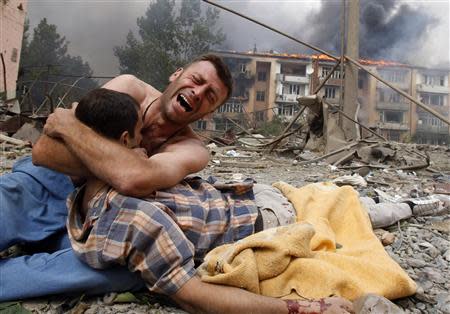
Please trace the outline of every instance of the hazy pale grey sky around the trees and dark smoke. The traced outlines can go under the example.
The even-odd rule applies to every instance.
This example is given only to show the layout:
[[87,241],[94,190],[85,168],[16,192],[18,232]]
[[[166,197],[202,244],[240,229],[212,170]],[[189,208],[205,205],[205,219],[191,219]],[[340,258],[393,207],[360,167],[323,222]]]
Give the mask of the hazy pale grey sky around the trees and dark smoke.
[[[370,4],[389,2],[361,0],[364,1],[371,1]],[[69,52],[88,61],[96,75],[115,75],[118,63],[113,47],[124,43],[130,29],[137,29],[136,19],[145,13],[149,3],[137,0],[29,0],[28,17],[31,28],[44,17],[49,23],[56,24],[58,32],[70,42]],[[331,21],[339,20],[336,10],[339,10],[340,0],[220,0],[219,3],[326,49],[331,49],[329,38],[339,36],[339,29]],[[400,10],[402,4],[411,8],[415,15],[408,16],[411,10]],[[408,24],[401,29],[421,31],[422,24],[427,27],[421,31],[419,41],[414,38],[417,34],[399,33],[391,40],[395,44],[388,47],[389,53],[398,55],[393,49],[396,46],[407,50],[402,57],[413,64],[436,66],[449,63],[449,10],[448,0],[395,1],[395,5],[385,11],[387,22],[396,18],[399,23]],[[406,16],[400,17],[399,12]],[[432,16],[433,22],[419,19],[420,16]],[[236,51],[252,49],[255,43],[259,51],[295,52],[302,49],[280,35],[227,12],[221,12],[221,26],[227,34],[227,47]],[[374,38],[375,35],[367,36]]]

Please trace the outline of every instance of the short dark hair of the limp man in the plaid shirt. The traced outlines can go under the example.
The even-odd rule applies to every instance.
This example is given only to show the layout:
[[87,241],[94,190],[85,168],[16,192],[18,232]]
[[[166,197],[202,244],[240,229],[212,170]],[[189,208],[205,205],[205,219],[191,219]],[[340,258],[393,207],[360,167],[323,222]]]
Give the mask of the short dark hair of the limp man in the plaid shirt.
[[130,95],[98,88],[80,100],[75,116],[97,133],[118,140],[125,131],[134,136],[138,110],[139,104]]

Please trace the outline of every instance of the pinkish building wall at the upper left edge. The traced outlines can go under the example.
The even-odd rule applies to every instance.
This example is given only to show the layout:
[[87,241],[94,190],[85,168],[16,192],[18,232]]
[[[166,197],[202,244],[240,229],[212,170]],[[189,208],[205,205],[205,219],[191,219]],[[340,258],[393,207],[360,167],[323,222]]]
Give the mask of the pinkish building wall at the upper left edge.
[[0,99],[16,97],[26,7],[26,0],[0,2]]

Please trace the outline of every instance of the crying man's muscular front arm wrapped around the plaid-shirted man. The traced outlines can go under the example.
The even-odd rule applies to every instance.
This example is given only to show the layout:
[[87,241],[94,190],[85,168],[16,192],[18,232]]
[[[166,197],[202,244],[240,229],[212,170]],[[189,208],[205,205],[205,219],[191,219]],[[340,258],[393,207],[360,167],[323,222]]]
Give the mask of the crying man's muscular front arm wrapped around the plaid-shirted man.
[[44,132],[61,138],[93,176],[120,193],[135,197],[171,187],[186,175],[203,169],[209,160],[208,151],[195,138],[181,138],[166,145],[160,153],[144,159],[123,145],[98,135],[64,109],[47,120]]

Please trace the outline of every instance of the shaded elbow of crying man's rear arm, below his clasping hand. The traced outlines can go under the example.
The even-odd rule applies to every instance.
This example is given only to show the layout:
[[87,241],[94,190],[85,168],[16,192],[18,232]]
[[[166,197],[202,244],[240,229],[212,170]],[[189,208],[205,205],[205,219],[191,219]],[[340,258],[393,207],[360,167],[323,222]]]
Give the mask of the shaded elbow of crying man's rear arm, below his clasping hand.
[[70,176],[87,177],[89,170],[58,139],[42,134],[33,146],[33,164],[47,167]]

